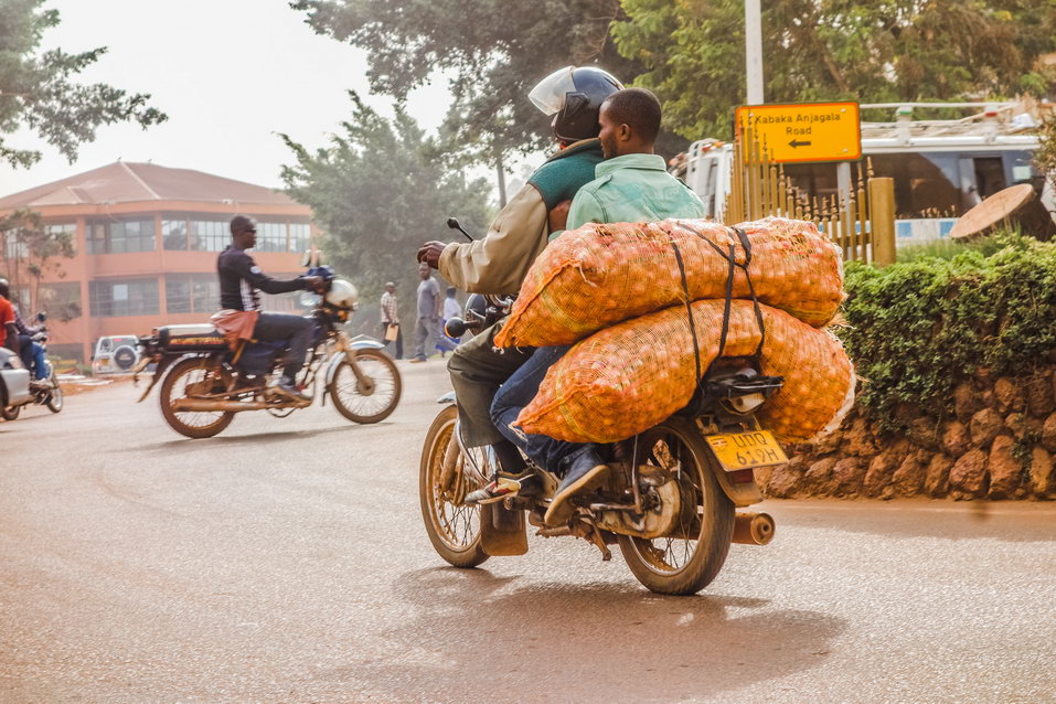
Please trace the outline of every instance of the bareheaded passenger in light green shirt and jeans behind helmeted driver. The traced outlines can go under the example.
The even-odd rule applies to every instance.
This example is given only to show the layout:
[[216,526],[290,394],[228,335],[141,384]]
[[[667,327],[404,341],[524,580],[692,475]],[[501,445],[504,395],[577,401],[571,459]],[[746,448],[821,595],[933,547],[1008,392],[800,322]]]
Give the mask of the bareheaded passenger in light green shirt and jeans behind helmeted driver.
[[[660,103],[649,90],[629,88],[614,93],[601,104],[601,149],[597,178],[576,193],[568,211],[567,227],[586,223],[641,223],[669,217],[704,216],[704,205],[693,191],[664,169],[663,157],[653,153],[660,132]],[[558,233],[559,236],[559,233]],[[520,447],[535,463],[562,478],[554,501],[546,512],[547,525],[561,525],[573,515],[569,499],[598,487],[608,468],[604,448],[595,444],[565,442],[543,435],[525,435],[513,430],[521,409],[535,394],[543,377],[568,346],[540,348],[495,394],[491,418],[510,441]],[[474,492],[478,502],[488,502],[490,494],[504,498],[512,491],[527,490],[529,477],[499,477],[497,484]],[[505,482],[504,486],[501,486]]]

